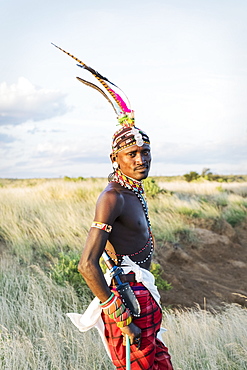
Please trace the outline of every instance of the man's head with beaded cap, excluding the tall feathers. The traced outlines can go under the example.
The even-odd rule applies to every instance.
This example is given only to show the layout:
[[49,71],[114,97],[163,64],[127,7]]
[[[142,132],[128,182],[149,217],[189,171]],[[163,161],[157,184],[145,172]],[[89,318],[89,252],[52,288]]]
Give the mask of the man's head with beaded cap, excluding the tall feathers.
[[113,135],[110,157],[126,176],[145,179],[151,164],[149,137],[136,127],[122,127]]

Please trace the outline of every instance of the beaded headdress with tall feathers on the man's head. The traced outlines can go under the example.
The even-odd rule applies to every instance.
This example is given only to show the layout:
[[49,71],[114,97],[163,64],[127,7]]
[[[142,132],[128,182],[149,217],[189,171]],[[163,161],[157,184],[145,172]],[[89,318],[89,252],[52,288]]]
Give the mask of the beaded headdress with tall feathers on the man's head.
[[[109,84],[119,89],[123,94],[124,92],[113,82],[109,81],[108,78],[103,77],[99,72],[87,66],[85,63],[76,58],[74,55],[68,53],[67,51],[61,49],[59,46],[53,43],[52,45],[54,45],[59,50],[63,51],[65,54],[69,55],[71,58],[75,59],[79,63],[77,64],[78,67],[84,68],[90,73],[92,73],[92,75],[101,83],[101,85],[106,90],[105,92],[97,85],[86,80],[83,80],[80,77],[76,77],[78,81],[99,91],[104,96],[104,98],[106,98],[106,100],[111,104],[114,112],[117,115],[118,122],[122,127],[113,135],[112,153],[114,154],[118,153],[120,150],[123,150],[132,145],[142,146],[144,144],[150,144],[148,136],[142,130],[135,127],[134,111],[128,108],[123,98],[119,94],[117,94],[109,86]],[[126,97],[127,102],[130,106],[127,96],[125,94],[124,96]]]

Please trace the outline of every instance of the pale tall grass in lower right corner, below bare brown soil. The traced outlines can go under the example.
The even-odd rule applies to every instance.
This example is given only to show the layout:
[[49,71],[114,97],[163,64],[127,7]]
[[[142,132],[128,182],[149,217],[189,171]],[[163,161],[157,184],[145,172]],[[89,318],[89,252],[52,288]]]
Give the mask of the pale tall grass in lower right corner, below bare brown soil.
[[247,369],[247,310],[237,305],[212,313],[200,307],[164,313],[166,341],[176,370]]

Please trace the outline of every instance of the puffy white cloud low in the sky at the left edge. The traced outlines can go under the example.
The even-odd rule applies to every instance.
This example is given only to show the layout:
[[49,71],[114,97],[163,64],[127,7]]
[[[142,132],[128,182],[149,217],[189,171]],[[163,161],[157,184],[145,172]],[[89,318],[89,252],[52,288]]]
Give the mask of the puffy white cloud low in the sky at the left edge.
[[65,114],[70,108],[65,94],[34,86],[20,77],[16,84],[0,84],[0,125],[20,125]]

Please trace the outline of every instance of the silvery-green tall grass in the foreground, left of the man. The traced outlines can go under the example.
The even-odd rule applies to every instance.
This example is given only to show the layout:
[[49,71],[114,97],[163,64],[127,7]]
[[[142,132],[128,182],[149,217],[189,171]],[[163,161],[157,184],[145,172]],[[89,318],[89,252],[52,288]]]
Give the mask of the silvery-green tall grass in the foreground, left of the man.
[[95,331],[80,333],[66,312],[81,312],[75,292],[59,287],[38,266],[1,261],[0,368],[111,369]]

